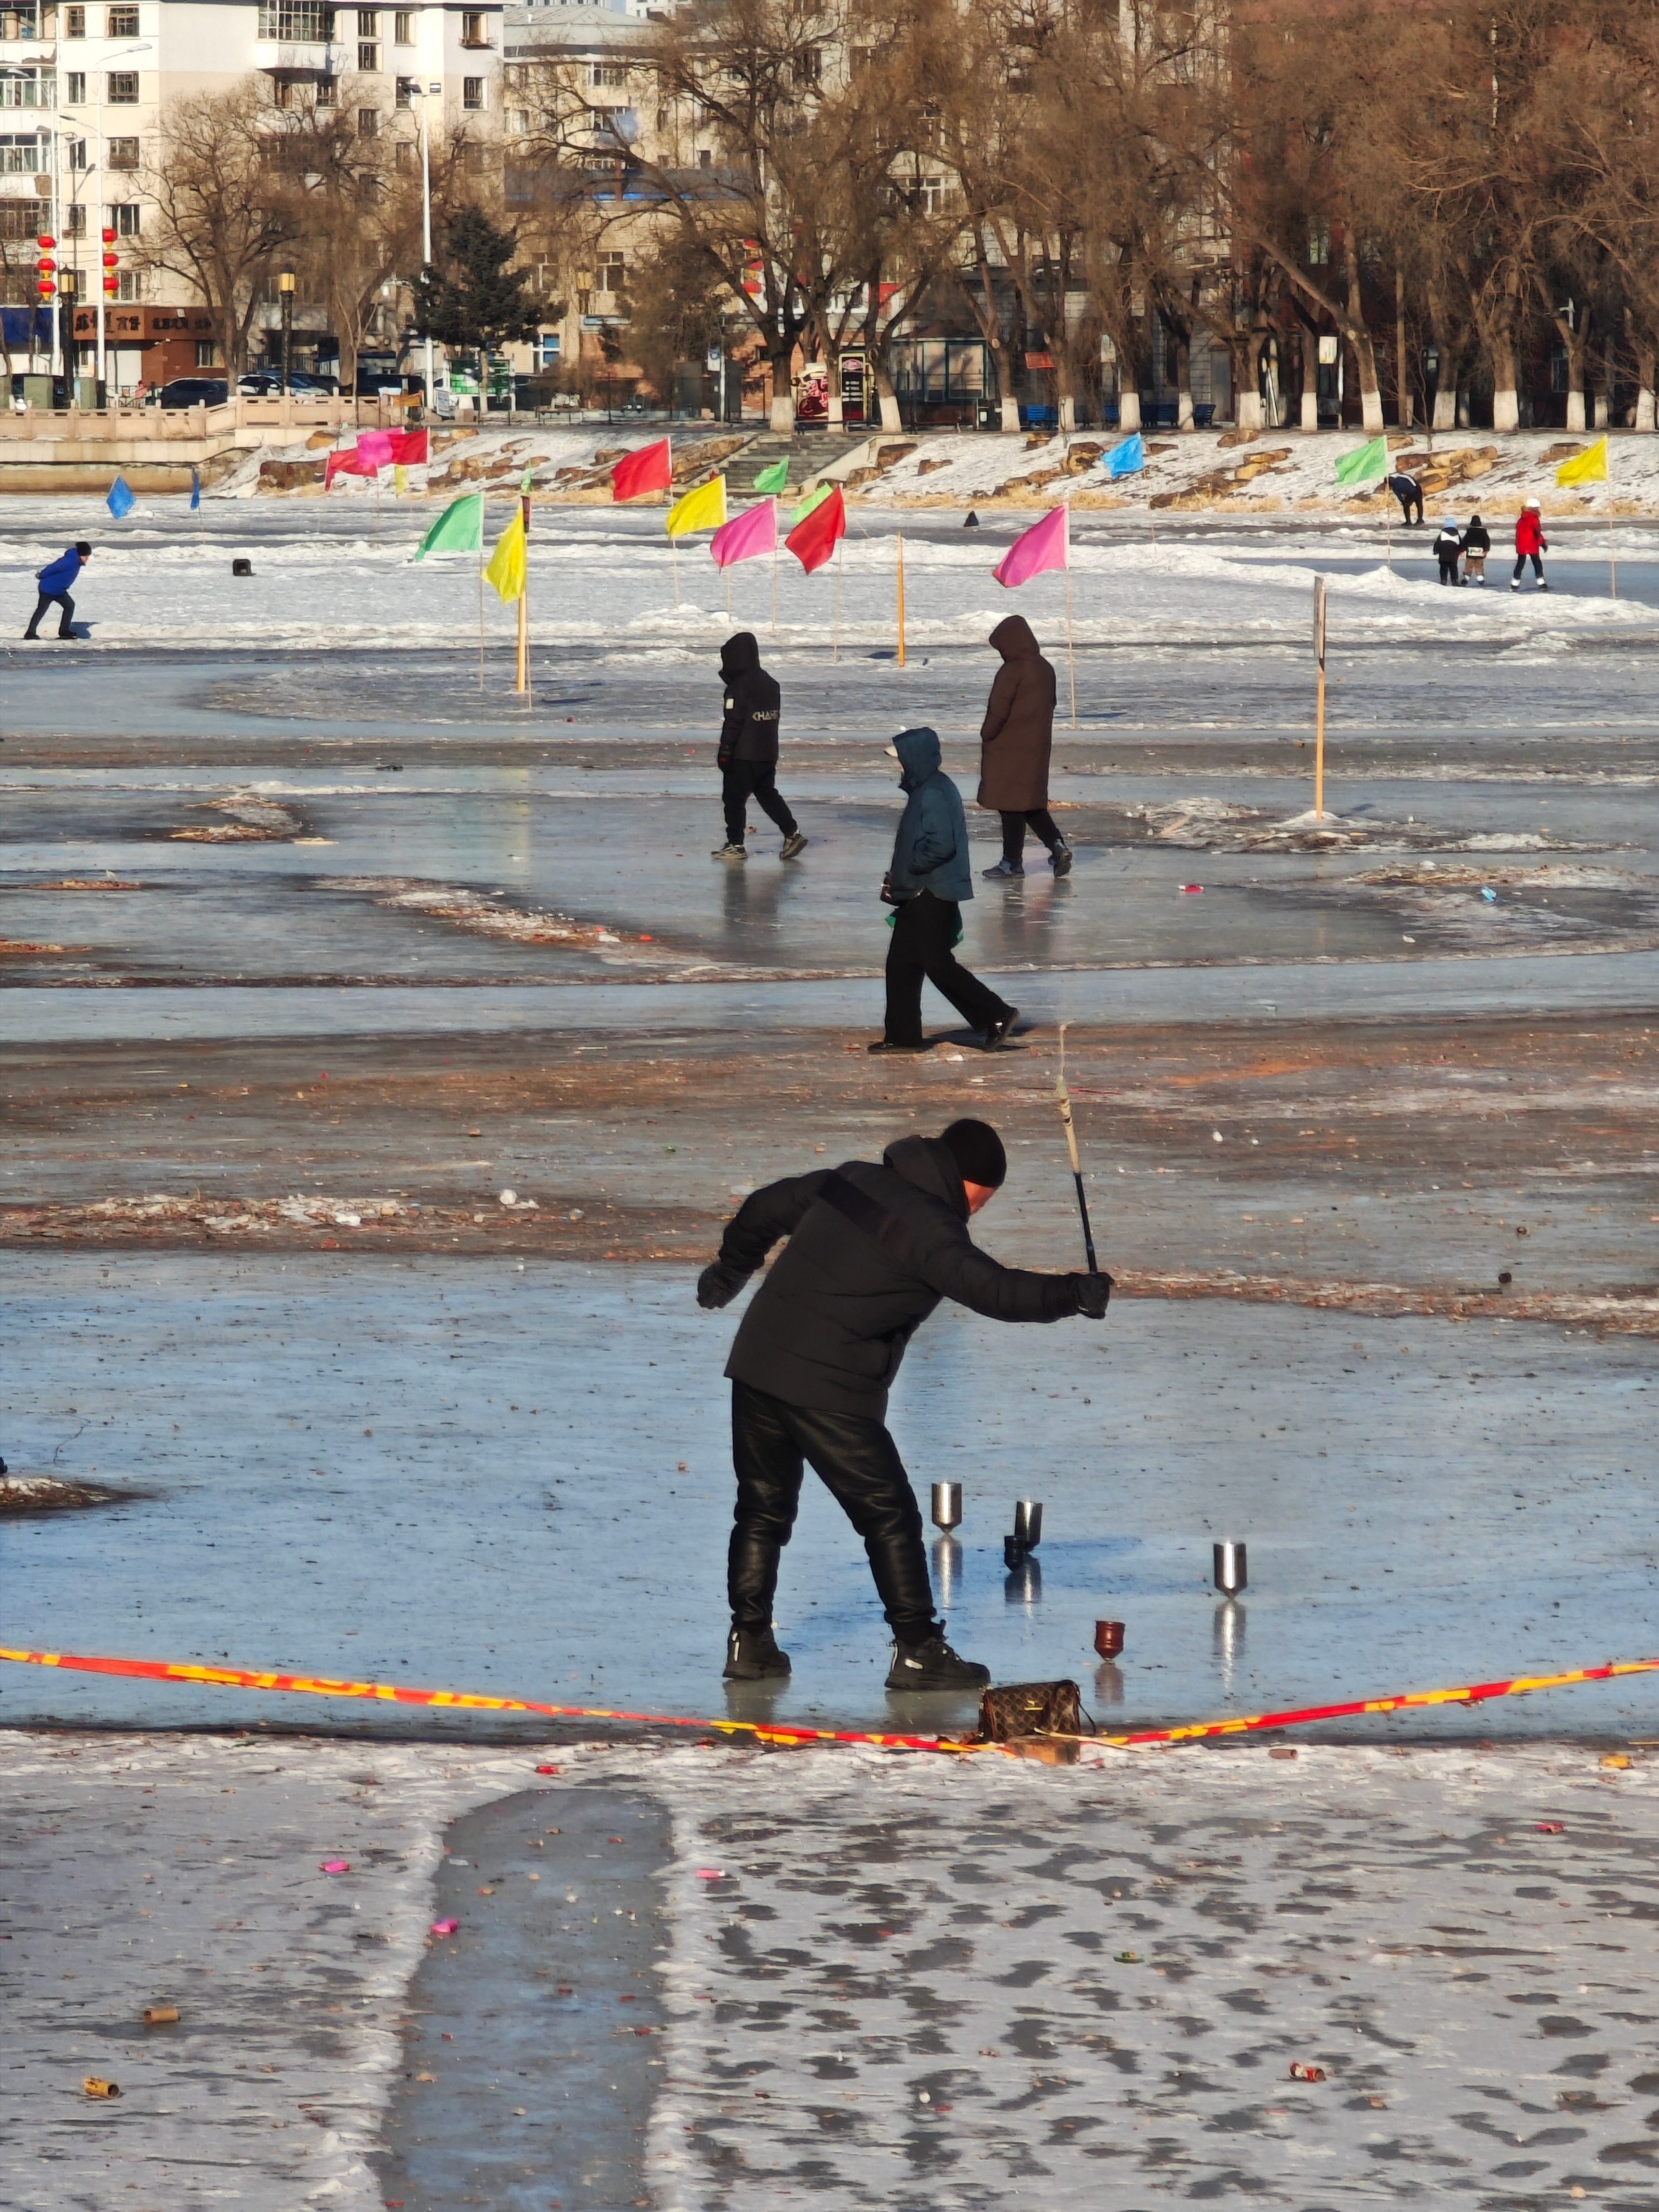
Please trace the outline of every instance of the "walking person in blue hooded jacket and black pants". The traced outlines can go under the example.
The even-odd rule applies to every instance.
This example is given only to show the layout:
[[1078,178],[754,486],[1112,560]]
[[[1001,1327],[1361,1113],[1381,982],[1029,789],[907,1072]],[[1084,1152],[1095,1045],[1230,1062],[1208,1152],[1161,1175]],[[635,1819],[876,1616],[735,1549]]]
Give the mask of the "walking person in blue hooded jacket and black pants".
[[887,752],[900,765],[905,812],[894,863],[880,887],[894,916],[887,947],[887,1029],[872,1053],[925,1053],[922,980],[984,1035],[989,1053],[1006,1040],[1020,1013],[956,958],[962,900],[973,898],[962,794],[940,768],[936,730],[900,730]]

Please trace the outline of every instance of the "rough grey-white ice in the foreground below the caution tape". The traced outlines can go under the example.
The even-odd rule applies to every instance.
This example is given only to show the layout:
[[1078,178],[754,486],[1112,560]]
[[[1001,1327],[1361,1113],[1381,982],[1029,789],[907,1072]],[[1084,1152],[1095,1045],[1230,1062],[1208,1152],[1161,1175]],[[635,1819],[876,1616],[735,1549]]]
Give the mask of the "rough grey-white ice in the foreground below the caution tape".
[[[526,2031],[575,2046],[582,2086],[626,2051],[604,2068],[624,2095],[593,2097],[575,2146],[602,2148],[608,2117],[664,2212],[1644,2201],[1652,1767],[1551,1743],[1060,1770],[553,1756],[538,1778],[529,1745],[4,1739],[31,1898],[7,1944],[9,2201],[378,2212],[396,2101],[409,2132],[447,2126],[451,2161],[467,2132],[480,2161],[524,2146],[493,2174],[502,2212],[617,2203],[564,2157],[557,2070],[513,2066]],[[630,1900],[648,1938],[617,1947],[659,1947],[626,2011],[573,1971],[628,1916],[588,1792],[672,1820]],[[445,1829],[482,1834],[491,1805],[493,1856],[451,1858],[442,1889],[478,1982],[434,2015],[409,1978]],[[349,1874],[319,1871],[334,1854]],[[491,1973],[498,1927],[511,1973]],[[177,2026],[139,2026],[157,1997]],[[509,2002],[531,2017],[493,2031]],[[661,2033],[637,2037],[641,2015]],[[86,2073],[122,2101],[84,2101]],[[403,2174],[396,2194],[458,2201]]]

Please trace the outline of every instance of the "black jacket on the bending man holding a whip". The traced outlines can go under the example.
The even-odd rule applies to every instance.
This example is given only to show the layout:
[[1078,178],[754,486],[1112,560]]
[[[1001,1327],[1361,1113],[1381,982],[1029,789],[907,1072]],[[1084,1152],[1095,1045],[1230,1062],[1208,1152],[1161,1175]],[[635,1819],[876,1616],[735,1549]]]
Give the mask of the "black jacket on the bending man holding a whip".
[[[874,1232],[823,1197],[832,1179],[876,1201]],[[754,1274],[779,1237],[790,1241],[743,1314],[726,1374],[818,1413],[880,1420],[905,1347],[940,1298],[991,1321],[1077,1312],[1073,1276],[980,1252],[962,1170],[938,1137],[900,1137],[880,1166],[847,1159],[752,1192],[726,1228],[721,1265]]]

